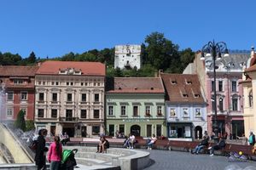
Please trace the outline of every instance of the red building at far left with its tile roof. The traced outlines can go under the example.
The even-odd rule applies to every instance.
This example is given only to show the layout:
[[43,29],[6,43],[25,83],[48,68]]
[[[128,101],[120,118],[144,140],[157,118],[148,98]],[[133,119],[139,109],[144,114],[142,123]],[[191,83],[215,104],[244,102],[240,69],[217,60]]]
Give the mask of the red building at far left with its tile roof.
[[16,120],[22,110],[34,119],[34,78],[38,66],[0,66],[0,120]]

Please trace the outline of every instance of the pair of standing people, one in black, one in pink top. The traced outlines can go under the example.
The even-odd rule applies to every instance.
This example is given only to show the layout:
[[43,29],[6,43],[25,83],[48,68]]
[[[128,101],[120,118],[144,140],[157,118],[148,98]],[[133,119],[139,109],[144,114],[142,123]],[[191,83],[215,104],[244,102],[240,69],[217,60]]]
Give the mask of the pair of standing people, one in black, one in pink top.
[[38,170],[46,169],[46,153],[48,152],[47,159],[50,163],[50,170],[58,170],[61,166],[62,159],[62,145],[59,136],[55,136],[55,142],[49,145],[49,149],[45,146],[45,137],[47,135],[46,129],[40,129],[38,131],[38,144],[36,148],[35,162],[38,166]]

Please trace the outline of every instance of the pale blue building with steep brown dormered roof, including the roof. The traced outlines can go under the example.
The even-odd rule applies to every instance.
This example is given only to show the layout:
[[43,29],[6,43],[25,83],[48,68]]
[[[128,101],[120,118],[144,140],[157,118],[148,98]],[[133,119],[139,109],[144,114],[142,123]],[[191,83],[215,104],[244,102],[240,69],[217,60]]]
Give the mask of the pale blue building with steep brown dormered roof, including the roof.
[[207,102],[197,75],[164,74],[167,136],[172,140],[201,139],[207,131]]

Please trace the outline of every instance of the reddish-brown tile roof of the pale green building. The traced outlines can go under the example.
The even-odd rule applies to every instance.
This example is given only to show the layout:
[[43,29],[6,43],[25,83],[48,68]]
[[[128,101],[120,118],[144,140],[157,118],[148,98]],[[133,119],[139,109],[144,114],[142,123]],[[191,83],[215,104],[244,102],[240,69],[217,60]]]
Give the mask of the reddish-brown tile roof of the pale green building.
[[[107,84],[111,86],[111,84]],[[108,87],[109,88],[109,87]],[[160,77],[115,77],[108,94],[164,94]]]

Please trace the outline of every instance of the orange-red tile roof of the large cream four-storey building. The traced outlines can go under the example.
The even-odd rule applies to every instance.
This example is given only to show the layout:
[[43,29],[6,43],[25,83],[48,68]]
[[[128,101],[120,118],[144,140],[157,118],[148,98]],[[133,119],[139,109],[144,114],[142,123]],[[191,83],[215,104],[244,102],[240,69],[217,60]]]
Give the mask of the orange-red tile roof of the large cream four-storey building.
[[59,71],[67,68],[82,71],[82,75],[88,76],[105,76],[105,65],[100,62],[83,62],[83,61],[44,61],[37,74],[43,75],[59,75]]

